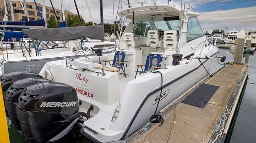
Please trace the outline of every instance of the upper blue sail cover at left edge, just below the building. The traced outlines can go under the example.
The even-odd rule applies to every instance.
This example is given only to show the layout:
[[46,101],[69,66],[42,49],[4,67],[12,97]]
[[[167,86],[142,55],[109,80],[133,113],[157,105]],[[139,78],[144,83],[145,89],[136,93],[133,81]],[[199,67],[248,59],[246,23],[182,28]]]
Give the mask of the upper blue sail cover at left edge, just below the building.
[[0,21],[0,30],[3,30],[6,27],[6,30],[17,30],[21,31],[26,28],[44,28],[45,21],[41,20],[32,20],[32,21]]

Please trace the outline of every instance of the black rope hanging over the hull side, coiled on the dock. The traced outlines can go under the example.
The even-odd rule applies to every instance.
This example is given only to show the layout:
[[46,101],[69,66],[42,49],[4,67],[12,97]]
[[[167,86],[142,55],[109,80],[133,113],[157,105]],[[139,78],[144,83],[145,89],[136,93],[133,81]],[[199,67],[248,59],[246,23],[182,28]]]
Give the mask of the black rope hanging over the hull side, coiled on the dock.
[[159,102],[160,102],[160,99],[161,99],[161,95],[162,95],[162,90],[163,90],[163,74],[160,72],[160,71],[157,71],[157,73],[160,73],[161,74],[161,91],[160,91],[160,96],[159,96],[159,99],[158,99],[158,102],[157,102],[157,107],[156,107],[156,110],[154,112],[154,115],[152,115],[150,117],[150,121],[151,123],[160,123],[159,126],[162,126],[163,124],[163,118],[161,115],[159,114],[156,114],[157,113],[157,108],[158,108],[158,105],[159,105]]

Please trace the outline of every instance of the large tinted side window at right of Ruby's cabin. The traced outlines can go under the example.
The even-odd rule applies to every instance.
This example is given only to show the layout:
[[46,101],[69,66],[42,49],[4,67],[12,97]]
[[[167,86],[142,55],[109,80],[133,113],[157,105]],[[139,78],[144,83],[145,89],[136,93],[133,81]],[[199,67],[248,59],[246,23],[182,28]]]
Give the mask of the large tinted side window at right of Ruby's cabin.
[[204,36],[204,32],[202,31],[202,28],[196,17],[189,18],[187,31],[187,41]]

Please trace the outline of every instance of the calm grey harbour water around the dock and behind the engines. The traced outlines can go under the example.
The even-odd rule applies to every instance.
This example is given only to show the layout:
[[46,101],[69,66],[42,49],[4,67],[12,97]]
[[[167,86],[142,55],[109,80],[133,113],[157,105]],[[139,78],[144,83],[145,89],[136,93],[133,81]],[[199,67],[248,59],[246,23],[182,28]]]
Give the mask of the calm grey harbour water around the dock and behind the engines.
[[[227,56],[225,62],[233,62],[234,53],[232,50],[220,49],[217,56]],[[241,107],[236,119],[233,133],[229,140],[230,143],[255,143],[256,142],[256,56],[247,56],[248,63],[251,64],[249,71],[248,84],[244,92],[244,98],[241,102]],[[243,57],[245,63],[246,58]],[[212,67],[210,73],[217,70],[221,65],[217,59],[212,59]],[[21,135],[13,127],[9,127],[9,135],[11,143],[27,143],[25,137]],[[91,141],[85,137],[78,137],[76,139],[70,138],[67,143],[90,143]]]

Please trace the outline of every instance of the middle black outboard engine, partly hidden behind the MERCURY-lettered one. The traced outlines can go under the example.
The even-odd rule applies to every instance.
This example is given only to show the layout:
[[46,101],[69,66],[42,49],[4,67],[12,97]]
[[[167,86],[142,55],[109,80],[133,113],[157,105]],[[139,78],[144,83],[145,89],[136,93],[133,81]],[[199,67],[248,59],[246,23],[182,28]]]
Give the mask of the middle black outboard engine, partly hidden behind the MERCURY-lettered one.
[[50,82],[49,79],[43,78],[26,78],[15,81],[8,88],[5,96],[5,108],[8,112],[9,119],[12,121],[13,126],[21,132],[20,121],[17,119],[17,102],[21,93],[25,90],[26,87],[38,83],[38,82]]

